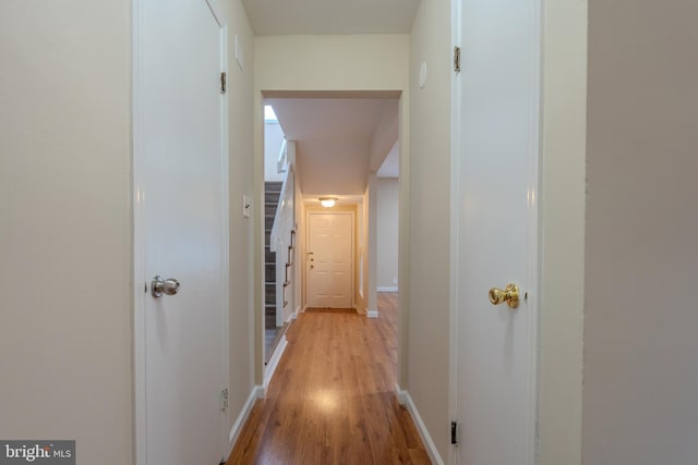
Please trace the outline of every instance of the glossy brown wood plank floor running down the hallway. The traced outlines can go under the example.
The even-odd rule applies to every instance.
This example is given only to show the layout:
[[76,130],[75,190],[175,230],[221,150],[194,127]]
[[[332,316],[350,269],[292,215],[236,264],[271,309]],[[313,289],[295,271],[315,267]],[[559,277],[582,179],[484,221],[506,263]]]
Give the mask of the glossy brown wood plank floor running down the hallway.
[[227,465],[431,463],[395,395],[397,295],[380,293],[378,311],[299,316]]

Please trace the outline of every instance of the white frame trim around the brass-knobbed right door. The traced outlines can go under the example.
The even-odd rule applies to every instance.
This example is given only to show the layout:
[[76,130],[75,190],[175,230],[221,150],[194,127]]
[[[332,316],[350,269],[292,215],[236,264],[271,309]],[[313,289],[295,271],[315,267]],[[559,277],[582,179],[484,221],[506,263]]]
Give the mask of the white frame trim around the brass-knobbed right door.
[[[533,372],[531,382],[534,384],[531,387],[531,397],[527,400],[529,412],[533,412],[533,417],[530,418],[529,427],[531,429],[532,443],[528,444],[530,454],[528,457],[524,457],[526,465],[534,465],[537,463],[537,456],[539,454],[540,442],[540,402],[539,402],[539,388],[540,388],[540,320],[541,320],[541,306],[540,298],[542,282],[540,267],[542,264],[540,250],[542,250],[542,234],[541,234],[541,185],[542,185],[542,45],[543,45],[543,23],[542,23],[542,3],[544,0],[530,0],[533,2],[533,9],[537,12],[532,21],[534,21],[534,28],[538,32],[533,47],[533,60],[539,63],[537,69],[537,75],[534,77],[534,89],[532,95],[534,96],[534,102],[532,112],[537,118],[532,118],[531,130],[538,133],[538,137],[533,140],[534,146],[530,147],[535,154],[529,160],[528,172],[528,270],[527,278],[530,285],[528,286],[527,295],[527,308],[530,309],[531,318],[528,321],[528,331],[531,334],[534,343],[531,346],[531,353],[528,354],[527,360],[530,363],[530,370]],[[464,14],[462,9],[464,0],[450,0],[452,5],[452,46],[462,46],[462,24],[461,19]],[[459,344],[460,339],[459,331],[459,313],[461,307],[461,296],[459,293],[460,285],[460,264],[459,264],[459,243],[460,237],[460,215],[462,211],[462,200],[460,198],[461,180],[459,176],[460,168],[460,124],[461,124],[461,86],[462,78],[460,72],[452,72],[450,90],[452,90],[452,109],[450,109],[450,260],[449,260],[449,382],[448,382],[448,413],[452,421],[460,424],[462,416],[460,406],[458,405],[458,392],[462,387],[460,383],[460,359],[459,359]],[[458,454],[457,448],[450,446],[448,449],[448,463],[457,463]]]

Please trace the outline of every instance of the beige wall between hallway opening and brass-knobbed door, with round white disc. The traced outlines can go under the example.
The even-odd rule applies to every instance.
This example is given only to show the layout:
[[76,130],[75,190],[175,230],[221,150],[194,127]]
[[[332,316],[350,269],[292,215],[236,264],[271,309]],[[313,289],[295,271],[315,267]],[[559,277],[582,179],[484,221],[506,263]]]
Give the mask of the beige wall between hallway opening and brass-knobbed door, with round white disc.
[[[450,7],[424,0],[410,34],[409,333],[400,379],[442,457],[448,456]],[[418,86],[422,62],[428,81]],[[401,215],[401,211],[400,211]],[[404,258],[404,254],[400,254]],[[400,302],[402,305],[402,302]]]

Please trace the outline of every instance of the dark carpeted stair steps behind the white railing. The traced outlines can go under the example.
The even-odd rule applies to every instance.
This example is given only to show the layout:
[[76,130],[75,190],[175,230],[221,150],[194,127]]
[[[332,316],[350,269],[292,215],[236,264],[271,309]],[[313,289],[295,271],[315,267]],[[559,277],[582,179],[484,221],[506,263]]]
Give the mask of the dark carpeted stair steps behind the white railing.
[[281,194],[280,182],[264,183],[264,328],[276,328],[276,253],[269,248],[269,236]]

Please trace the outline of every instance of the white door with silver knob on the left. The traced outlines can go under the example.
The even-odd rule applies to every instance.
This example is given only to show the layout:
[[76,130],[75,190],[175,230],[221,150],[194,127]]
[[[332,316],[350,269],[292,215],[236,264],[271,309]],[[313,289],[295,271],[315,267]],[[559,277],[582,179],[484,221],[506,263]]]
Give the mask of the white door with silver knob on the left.
[[[136,9],[135,259],[145,281],[136,304],[137,458],[217,465],[227,222],[221,28],[205,0],[140,0]],[[156,274],[178,280],[179,292],[154,296],[145,287]]]

